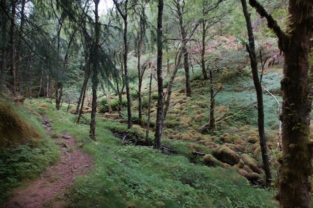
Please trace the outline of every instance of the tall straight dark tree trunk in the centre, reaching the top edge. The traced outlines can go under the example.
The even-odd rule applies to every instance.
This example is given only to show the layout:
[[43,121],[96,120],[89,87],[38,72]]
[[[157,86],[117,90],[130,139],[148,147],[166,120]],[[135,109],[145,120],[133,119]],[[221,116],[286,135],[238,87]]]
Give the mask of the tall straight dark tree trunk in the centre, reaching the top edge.
[[162,79],[162,56],[163,56],[163,36],[162,36],[162,15],[163,15],[163,0],[158,0],[157,13],[157,110],[156,110],[156,126],[154,134],[153,148],[161,147],[161,135],[163,127],[163,79]]

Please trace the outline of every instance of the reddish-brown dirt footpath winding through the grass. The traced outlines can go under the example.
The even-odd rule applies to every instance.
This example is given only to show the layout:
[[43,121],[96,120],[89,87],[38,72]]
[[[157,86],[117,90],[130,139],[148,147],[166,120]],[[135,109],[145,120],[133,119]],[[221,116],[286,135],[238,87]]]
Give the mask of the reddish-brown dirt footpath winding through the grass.
[[[42,118],[47,133],[51,130],[49,122]],[[80,152],[75,139],[65,132],[53,140],[60,148],[59,162],[45,171],[40,179],[13,191],[12,198],[0,205],[0,208],[43,208],[45,204],[50,208],[63,207],[64,201],[59,199],[64,195],[66,187],[75,181],[75,176],[87,174],[92,166],[92,158]],[[56,196],[59,197],[57,201],[51,200]]]

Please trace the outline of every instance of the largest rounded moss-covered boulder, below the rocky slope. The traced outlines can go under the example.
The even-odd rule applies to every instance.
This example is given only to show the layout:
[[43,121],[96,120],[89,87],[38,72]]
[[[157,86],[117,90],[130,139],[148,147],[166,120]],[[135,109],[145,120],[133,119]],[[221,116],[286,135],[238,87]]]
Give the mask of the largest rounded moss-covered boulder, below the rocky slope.
[[216,147],[212,153],[215,158],[229,165],[235,165],[240,160],[239,155],[225,145]]

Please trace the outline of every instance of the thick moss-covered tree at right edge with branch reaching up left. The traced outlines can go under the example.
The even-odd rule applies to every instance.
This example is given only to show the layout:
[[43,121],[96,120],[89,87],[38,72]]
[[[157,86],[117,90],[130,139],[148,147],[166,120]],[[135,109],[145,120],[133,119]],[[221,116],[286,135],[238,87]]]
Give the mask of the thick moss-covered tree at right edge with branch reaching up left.
[[308,208],[312,173],[312,147],[309,138],[311,109],[311,77],[308,76],[313,22],[312,0],[289,0],[287,30],[256,0],[249,4],[267,20],[267,26],[278,37],[278,47],[284,53],[282,94],[282,159],[279,171],[279,191],[275,196],[279,208]]

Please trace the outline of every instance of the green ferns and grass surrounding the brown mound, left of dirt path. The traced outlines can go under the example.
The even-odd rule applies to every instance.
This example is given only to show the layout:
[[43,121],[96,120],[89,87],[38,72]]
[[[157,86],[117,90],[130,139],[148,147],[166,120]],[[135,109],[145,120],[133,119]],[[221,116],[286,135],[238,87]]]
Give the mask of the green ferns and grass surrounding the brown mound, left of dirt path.
[[[13,188],[20,186],[24,180],[38,177],[49,167],[49,164],[56,162],[59,156],[54,142],[44,136],[45,131],[41,125],[40,116],[24,107],[14,107],[1,102],[1,107],[3,105],[13,109],[15,120],[27,121],[27,126],[30,126],[31,130],[18,131],[15,129],[19,134],[19,141],[15,139],[12,147],[3,148],[0,151],[0,204],[10,196]],[[40,138],[25,135],[25,132],[31,132],[33,129],[38,132],[35,135],[40,133]],[[11,134],[8,131],[6,135],[9,137]],[[25,141],[24,138],[27,140]],[[7,140],[10,139],[7,138]]]

